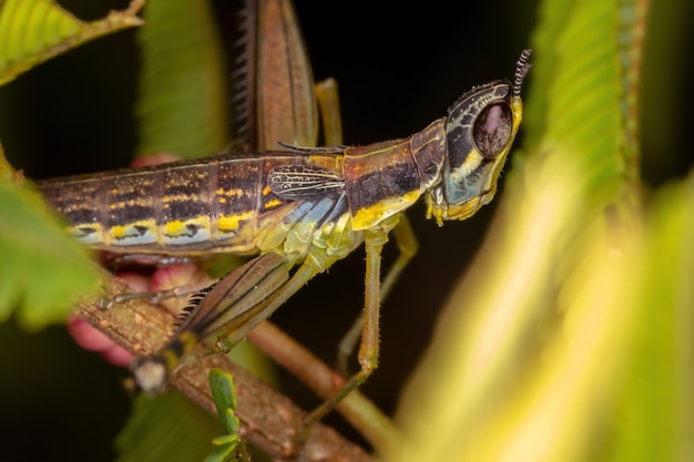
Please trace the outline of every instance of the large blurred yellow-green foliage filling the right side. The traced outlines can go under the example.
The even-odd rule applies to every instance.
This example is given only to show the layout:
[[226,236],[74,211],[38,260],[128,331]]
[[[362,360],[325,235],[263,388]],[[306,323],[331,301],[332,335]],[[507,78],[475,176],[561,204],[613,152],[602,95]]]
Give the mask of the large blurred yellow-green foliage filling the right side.
[[404,394],[399,460],[694,458],[694,176],[642,204],[646,10],[543,2],[524,153]]

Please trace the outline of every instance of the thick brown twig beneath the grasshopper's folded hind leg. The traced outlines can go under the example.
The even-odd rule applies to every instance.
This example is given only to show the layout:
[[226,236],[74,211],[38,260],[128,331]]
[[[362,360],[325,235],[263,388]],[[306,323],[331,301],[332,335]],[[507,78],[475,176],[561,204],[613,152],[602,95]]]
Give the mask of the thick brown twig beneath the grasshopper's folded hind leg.
[[[129,291],[127,286],[111,275],[105,276],[105,280],[106,294]],[[134,355],[150,353],[164,345],[173,325],[170,312],[144,299],[108,310],[100,309],[94,300],[82,300],[76,314]],[[171,386],[216,415],[207,382],[210,369],[215,367],[234,377],[243,437],[275,460],[294,460],[305,412],[225,356],[187,361],[177,369]],[[323,424],[312,428],[304,456],[308,461],[372,461],[360,446]]]

